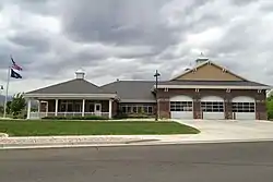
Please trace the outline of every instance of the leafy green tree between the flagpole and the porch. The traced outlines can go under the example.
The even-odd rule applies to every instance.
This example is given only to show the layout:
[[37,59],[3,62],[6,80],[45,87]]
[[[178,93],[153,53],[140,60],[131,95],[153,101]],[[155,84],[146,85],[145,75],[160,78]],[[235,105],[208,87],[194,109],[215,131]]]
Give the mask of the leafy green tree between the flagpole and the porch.
[[26,101],[25,101],[25,98],[23,97],[23,94],[21,93],[15,94],[12,97],[12,100],[10,102],[10,112],[13,116],[17,116],[25,109],[25,106],[26,106]]

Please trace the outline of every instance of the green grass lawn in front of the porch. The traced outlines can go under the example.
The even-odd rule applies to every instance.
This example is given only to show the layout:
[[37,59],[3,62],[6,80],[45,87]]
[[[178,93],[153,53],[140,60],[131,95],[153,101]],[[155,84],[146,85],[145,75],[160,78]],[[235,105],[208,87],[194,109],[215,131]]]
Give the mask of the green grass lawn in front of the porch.
[[176,122],[149,121],[0,121],[10,136],[194,134],[197,129]]

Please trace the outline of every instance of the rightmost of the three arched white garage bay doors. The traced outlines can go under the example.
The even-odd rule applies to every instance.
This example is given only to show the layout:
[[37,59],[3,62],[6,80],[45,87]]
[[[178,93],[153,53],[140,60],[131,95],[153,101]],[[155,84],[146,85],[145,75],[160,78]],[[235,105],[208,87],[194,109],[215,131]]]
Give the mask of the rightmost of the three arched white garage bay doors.
[[256,100],[247,96],[233,98],[233,113],[236,120],[256,119]]

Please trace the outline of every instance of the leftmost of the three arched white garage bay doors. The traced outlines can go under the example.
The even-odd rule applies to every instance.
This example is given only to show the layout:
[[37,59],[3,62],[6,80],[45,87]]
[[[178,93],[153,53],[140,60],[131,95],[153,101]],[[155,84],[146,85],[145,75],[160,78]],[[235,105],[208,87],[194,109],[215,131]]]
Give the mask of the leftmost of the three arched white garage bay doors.
[[170,118],[193,119],[193,104],[189,96],[175,96],[170,101]]

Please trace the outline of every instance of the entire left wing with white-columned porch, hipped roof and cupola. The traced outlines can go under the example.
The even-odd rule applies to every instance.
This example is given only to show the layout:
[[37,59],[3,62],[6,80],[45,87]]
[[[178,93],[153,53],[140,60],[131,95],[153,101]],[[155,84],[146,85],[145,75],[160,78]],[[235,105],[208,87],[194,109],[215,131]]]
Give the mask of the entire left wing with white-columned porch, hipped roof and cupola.
[[[78,70],[75,78],[24,94],[27,99],[27,119],[45,117],[112,117],[117,93],[105,90],[84,78]],[[38,110],[32,111],[32,100],[38,100]]]

